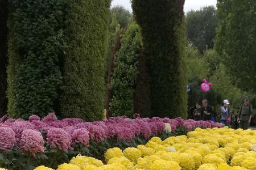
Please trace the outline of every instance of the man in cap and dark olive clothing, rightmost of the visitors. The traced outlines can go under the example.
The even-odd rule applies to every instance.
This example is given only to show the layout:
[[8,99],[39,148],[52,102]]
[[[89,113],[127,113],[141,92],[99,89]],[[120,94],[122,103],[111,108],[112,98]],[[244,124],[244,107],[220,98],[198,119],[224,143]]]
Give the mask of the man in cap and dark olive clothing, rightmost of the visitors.
[[250,104],[249,98],[246,97],[245,103],[241,105],[240,111],[238,113],[239,128],[243,130],[249,128],[252,114],[253,114],[253,107]]

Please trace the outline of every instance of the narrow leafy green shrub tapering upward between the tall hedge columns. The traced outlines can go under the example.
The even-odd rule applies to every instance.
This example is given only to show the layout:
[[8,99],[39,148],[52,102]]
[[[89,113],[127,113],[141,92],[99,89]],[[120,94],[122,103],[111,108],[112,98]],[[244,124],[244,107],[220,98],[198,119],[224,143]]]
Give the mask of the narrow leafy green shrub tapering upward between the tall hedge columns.
[[134,97],[138,74],[138,57],[141,50],[139,27],[131,23],[121,40],[121,48],[115,54],[114,73],[110,87],[112,116],[134,114]]

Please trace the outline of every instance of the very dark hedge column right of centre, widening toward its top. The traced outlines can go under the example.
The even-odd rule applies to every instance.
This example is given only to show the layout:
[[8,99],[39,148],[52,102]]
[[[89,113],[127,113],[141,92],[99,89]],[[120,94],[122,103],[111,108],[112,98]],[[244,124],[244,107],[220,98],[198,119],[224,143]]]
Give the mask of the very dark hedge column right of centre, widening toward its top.
[[184,0],[133,0],[150,68],[152,116],[186,115]]

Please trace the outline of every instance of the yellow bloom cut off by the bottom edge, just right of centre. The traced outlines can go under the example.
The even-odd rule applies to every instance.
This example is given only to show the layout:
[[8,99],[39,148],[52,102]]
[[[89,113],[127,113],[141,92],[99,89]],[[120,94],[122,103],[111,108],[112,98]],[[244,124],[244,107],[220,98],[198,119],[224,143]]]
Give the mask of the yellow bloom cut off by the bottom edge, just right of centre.
[[181,167],[176,162],[167,161],[167,160],[156,160],[154,163],[152,163],[151,170],[181,170]]

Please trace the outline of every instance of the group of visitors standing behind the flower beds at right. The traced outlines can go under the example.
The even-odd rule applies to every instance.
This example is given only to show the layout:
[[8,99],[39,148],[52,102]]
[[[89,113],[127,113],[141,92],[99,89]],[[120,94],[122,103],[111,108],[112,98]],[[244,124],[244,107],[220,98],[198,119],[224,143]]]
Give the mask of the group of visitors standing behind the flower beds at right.
[[214,111],[208,104],[208,101],[204,99],[201,103],[197,102],[195,108],[192,110],[188,109],[188,118],[196,121],[211,120],[221,122],[233,129],[248,129],[250,125],[255,125],[256,123],[255,116],[253,115],[253,107],[248,97],[245,98],[237,114],[232,113],[228,100],[224,100],[220,109]]

